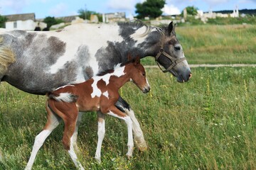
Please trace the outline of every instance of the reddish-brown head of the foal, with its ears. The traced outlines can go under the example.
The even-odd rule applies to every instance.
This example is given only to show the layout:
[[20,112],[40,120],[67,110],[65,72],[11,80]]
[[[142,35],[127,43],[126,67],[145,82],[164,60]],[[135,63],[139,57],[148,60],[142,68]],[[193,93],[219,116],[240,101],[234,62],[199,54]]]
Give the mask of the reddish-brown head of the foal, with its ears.
[[146,72],[142,64],[140,64],[139,57],[133,60],[132,63],[129,64],[129,67],[126,67],[125,69],[134,84],[136,84],[144,94],[149,92],[149,81],[146,79]]

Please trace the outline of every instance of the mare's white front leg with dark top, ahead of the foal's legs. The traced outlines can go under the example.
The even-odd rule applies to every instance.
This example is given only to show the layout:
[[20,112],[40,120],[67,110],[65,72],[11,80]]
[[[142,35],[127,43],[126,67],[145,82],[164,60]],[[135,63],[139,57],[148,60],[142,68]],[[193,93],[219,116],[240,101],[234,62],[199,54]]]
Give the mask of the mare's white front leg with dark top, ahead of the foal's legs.
[[140,128],[139,122],[137,118],[135,118],[134,111],[132,111],[132,108],[126,101],[124,101],[122,97],[118,98],[115,106],[117,106],[117,108],[123,113],[129,115],[129,117],[132,119],[132,130],[134,132],[135,145],[137,145],[140,151],[145,151],[147,149],[146,141],[144,139],[142,128]]

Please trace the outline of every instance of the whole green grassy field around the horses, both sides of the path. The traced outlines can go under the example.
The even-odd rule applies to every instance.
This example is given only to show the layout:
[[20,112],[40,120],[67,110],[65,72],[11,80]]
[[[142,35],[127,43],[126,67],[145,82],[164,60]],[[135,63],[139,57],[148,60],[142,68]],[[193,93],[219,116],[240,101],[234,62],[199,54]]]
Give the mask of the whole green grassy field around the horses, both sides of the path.
[[[255,26],[193,26],[176,32],[191,64],[256,63]],[[132,83],[121,93],[134,109],[149,149],[135,148],[128,160],[126,125],[108,116],[102,164],[97,164],[97,116],[85,113],[78,135],[85,169],[256,169],[255,67],[193,68],[185,84],[158,68],[146,72],[149,94]],[[6,83],[0,91],[0,169],[24,169],[34,137],[46,123],[46,98]],[[63,124],[48,137],[33,169],[75,169],[63,149],[62,133]]]

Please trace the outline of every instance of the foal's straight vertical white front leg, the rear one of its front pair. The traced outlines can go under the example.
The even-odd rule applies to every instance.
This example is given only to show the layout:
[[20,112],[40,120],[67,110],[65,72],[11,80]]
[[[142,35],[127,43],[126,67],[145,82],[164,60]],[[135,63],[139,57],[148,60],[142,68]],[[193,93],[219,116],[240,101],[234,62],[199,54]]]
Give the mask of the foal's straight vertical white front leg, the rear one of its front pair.
[[101,162],[100,160],[100,152],[101,152],[101,147],[102,147],[102,141],[105,137],[105,117],[106,115],[101,113],[100,111],[97,112],[97,119],[98,119],[98,141],[97,141],[97,149],[95,153],[95,159],[97,162]]

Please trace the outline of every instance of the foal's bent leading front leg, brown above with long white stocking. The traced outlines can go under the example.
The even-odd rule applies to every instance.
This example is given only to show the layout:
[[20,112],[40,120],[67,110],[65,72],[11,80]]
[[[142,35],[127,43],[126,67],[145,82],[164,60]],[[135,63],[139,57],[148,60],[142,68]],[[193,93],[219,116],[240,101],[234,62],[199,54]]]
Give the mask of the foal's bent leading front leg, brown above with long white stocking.
[[126,115],[125,113],[122,113],[122,111],[119,111],[118,108],[115,106],[112,106],[110,108],[110,113],[107,113],[108,115],[112,115],[115,118],[119,118],[124,120],[124,122],[127,124],[127,130],[128,130],[128,152],[127,152],[127,157],[130,158],[132,157],[132,152],[133,152],[133,147],[134,147],[134,142],[132,138],[132,119],[129,117],[129,115]]

